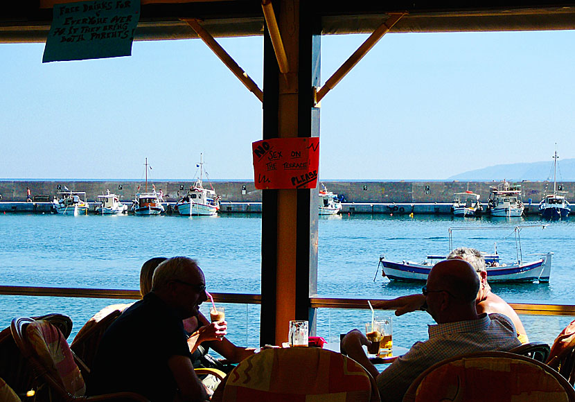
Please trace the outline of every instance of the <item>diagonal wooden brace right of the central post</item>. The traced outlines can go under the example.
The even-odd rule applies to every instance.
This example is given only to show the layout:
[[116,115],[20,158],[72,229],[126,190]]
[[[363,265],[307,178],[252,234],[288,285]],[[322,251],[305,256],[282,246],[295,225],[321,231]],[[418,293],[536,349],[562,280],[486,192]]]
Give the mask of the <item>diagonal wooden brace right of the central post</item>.
[[316,105],[321,101],[322,98],[324,98],[324,96],[326,96],[326,94],[331,89],[333,89],[333,87],[335,87],[335,85],[337,85],[339,81],[341,81],[347,75],[349,71],[351,71],[351,69],[353,69],[353,67],[355,67],[355,64],[362,60],[364,55],[366,55],[367,52],[369,52],[371,48],[373,48],[373,46],[379,42],[383,35],[388,33],[389,30],[396,24],[396,22],[399,21],[404,15],[406,15],[405,12],[389,14],[389,18],[386,19],[384,23],[381,24],[376,30],[374,30],[371,35],[369,35],[365,42],[363,42],[361,46],[357,48],[357,50],[353,52],[351,56],[349,56],[348,60],[346,60],[344,64],[342,64],[342,66],[339,67],[339,69],[337,69],[337,71],[335,71],[335,73],[333,73],[330,78],[328,78],[324,86],[321,87],[319,91],[317,91],[314,99]]

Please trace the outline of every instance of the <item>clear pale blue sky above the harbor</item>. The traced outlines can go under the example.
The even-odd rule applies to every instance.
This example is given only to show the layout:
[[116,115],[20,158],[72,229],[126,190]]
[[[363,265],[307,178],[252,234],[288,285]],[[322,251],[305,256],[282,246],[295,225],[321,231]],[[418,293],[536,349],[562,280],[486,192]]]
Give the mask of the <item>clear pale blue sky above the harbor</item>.
[[[322,38],[322,82],[365,35]],[[261,37],[218,39],[262,87]],[[573,31],[386,35],[321,102],[321,180],[441,180],[575,157]],[[261,103],[200,40],[42,64],[0,44],[0,179],[253,180]],[[561,160],[560,159],[560,160]]]

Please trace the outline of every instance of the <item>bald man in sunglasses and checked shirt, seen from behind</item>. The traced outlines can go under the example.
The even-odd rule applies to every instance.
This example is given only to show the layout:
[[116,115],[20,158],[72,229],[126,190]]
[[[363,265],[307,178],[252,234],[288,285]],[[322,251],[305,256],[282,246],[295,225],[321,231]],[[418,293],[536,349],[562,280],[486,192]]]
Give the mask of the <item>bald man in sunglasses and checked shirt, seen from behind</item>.
[[357,329],[342,339],[341,350],[375,378],[382,402],[403,399],[409,385],[436,362],[476,351],[507,351],[520,345],[513,322],[504,315],[477,314],[475,298],[479,278],[472,266],[460,259],[437,263],[423,288],[427,312],[436,325],[430,325],[430,339],[416,342],[383,372],[371,364],[362,345],[369,345]]

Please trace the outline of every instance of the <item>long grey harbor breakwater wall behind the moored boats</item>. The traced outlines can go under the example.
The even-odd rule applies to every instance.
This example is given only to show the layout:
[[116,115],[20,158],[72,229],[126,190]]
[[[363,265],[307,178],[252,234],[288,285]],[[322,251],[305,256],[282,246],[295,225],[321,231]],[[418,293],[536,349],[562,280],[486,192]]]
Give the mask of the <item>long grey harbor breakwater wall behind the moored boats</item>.
[[[489,196],[489,187],[499,182],[439,182],[439,181],[396,181],[396,182],[346,182],[346,181],[321,181],[328,191],[333,191],[344,197],[345,203],[371,203],[371,204],[420,204],[420,203],[450,203],[453,194],[469,189],[481,195],[481,202],[486,202]],[[157,191],[163,192],[166,202],[177,202],[186,193],[186,189],[192,186],[191,181],[155,181]],[[533,204],[538,204],[545,193],[553,191],[553,182],[521,182],[522,196],[525,204],[529,199]],[[261,191],[256,190],[254,182],[246,181],[220,181],[212,182],[216,193],[222,197],[222,202],[261,202]],[[2,201],[26,201],[26,188],[35,201],[51,201],[59,191],[84,191],[87,201],[95,202],[98,195],[109,190],[119,195],[121,201],[127,203],[134,199],[134,194],[144,191],[144,185],[134,181],[0,181],[0,195]],[[209,187],[209,183],[204,182]],[[558,190],[567,191],[569,195],[575,194],[575,182],[561,182],[557,184]],[[152,191],[152,184],[148,183],[148,190]],[[45,197],[41,197],[44,195]]]

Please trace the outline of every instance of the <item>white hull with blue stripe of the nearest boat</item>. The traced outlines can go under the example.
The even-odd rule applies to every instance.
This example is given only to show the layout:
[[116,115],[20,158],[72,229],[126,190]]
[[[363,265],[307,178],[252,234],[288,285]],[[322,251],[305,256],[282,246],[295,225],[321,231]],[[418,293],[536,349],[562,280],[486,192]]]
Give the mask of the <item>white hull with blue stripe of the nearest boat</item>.
[[[537,261],[522,264],[497,265],[487,267],[487,279],[490,282],[549,282],[551,275],[551,256],[547,253]],[[403,261],[395,263],[381,259],[382,274],[391,281],[427,281],[433,265],[423,265]]]

